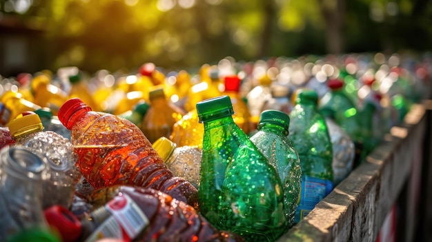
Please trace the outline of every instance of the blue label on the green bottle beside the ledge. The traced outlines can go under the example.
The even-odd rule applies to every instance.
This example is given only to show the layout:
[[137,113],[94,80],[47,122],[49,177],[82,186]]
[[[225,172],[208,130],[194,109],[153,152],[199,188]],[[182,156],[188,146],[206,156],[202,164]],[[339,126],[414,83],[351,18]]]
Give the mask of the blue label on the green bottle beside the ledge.
[[316,177],[302,176],[300,203],[295,211],[295,223],[300,222],[333,190],[333,182]]

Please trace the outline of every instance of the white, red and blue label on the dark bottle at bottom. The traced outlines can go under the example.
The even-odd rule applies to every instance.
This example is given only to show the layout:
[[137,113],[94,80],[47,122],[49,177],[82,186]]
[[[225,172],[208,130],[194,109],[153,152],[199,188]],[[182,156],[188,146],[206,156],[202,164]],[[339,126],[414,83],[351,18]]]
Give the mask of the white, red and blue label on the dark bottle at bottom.
[[88,237],[86,242],[108,237],[131,241],[149,224],[146,214],[127,194],[115,196],[104,208],[111,216]]

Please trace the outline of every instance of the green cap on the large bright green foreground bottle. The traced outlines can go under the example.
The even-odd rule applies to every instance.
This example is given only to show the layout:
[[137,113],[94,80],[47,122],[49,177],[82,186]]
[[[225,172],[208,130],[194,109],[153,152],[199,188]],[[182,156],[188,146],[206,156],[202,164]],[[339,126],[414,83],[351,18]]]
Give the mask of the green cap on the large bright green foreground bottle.
[[199,123],[228,117],[234,114],[231,99],[226,95],[198,102],[197,112]]

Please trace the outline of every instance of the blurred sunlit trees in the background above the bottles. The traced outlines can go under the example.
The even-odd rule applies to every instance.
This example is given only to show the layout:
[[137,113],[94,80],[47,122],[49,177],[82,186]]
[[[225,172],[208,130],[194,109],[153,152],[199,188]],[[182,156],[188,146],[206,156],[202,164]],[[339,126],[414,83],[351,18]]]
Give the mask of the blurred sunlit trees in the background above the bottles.
[[428,0],[0,0],[11,18],[41,32],[37,68],[51,70],[432,47]]

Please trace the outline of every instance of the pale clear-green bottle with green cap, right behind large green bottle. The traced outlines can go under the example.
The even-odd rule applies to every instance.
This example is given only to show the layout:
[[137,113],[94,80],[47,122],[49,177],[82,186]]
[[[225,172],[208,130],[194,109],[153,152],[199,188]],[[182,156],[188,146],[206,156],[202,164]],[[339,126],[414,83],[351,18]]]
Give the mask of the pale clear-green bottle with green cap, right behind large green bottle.
[[300,195],[302,167],[299,155],[288,139],[289,123],[288,114],[265,110],[259,117],[258,132],[251,137],[251,141],[279,174],[284,190],[285,216],[291,228]]

